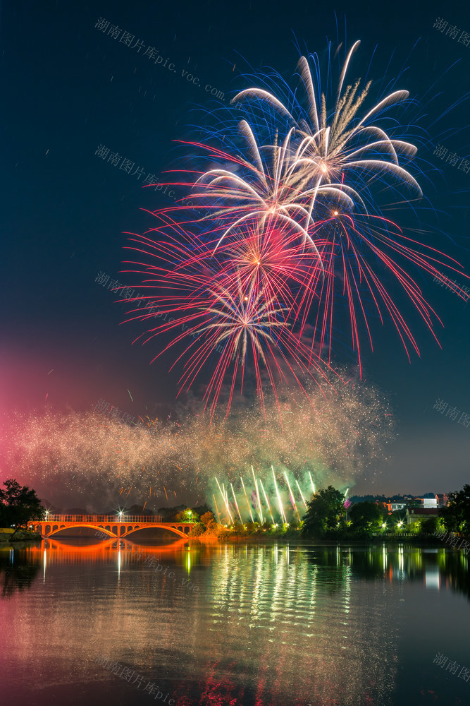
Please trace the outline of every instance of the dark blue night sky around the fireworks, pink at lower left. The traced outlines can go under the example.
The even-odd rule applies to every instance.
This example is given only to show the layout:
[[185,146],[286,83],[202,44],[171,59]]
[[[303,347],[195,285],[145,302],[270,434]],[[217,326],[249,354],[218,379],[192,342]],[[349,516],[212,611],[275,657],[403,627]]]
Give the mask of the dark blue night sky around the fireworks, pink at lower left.
[[[243,74],[250,66],[273,66],[288,79],[297,43],[321,53],[328,38],[336,42],[335,12],[340,37],[346,18],[348,46],[361,40],[354,76],[375,51],[371,76],[408,67],[400,88],[435,96],[428,144],[419,148],[432,179],[423,190],[430,213],[435,209],[424,218],[423,229],[431,224],[433,231],[423,240],[470,272],[470,174],[433,154],[433,145],[442,144],[449,153],[469,155],[470,46],[433,28],[443,16],[449,27],[470,33],[468,4],[42,0],[0,8],[3,414],[46,405],[86,410],[99,399],[130,414],[171,412],[178,381],[178,370],[168,373],[171,357],[149,366],[158,342],[131,345],[142,324],[121,325],[125,305],[95,279],[101,272],[109,281],[137,285],[120,274],[123,233],[149,227],[141,209],[171,203],[142,189],[142,181],[149,173],[165,181],[161,173],[181,157],[173,140],[192,134],[199,108],[220,104],[206,85],[223,92],[228,104],[247,86]],[[95,28],[99,18],[118,25],[120,37],[126,31],[132,43],[154,46],[168,57],[167,67]],[[200,85],[183,78],[183,69]],[[95,155],[99,145],[133,162],[132,171],[142,167],[141,180]],[[397,211],[406,226],[406,216],[400,218]],[[470,426],[433,406],[440,398],[459,416],[470,414],[470,304],[418,277],[444,323],[442,349],[410,312],[421,349],[410,364],[392,325],[373,321],[364,377],[390,397],[398,436],[380,479],[373,486],[360,481],[356,493],[452,491],[469,481]]]

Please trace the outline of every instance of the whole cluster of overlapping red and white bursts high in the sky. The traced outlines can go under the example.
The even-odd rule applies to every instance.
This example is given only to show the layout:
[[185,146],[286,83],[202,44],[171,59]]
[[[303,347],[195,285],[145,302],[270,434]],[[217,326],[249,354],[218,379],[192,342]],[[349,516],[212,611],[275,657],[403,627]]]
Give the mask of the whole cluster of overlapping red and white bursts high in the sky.
[[145,275],[144,294],[130,300],[144,310],[130,318],[147,323],[154,308],[171,316],[138,340],[170,333],[157,357],[186,345],[173,363],[184,366],[180,390],[209,374],[212,414],[225,383],[228,414],[235,384],[243,390],[249,370],[261,406],[264,377],[275,392],[286,376],[302,388],[305,376],[323,375],[322,361],[330,364],[338,344],[352,347],[361,375],[362,339],[372,347],[373,317],[395,326],[408,357],[419,354],[397,303],[402,294],[436,338],[440,320],[409,270],[450,282],[440,270],[459,265],[384,213],[395,208],[383,203],[384,191],[399,203],[422,196],[411,171],[416,146],[396,116],[412,102],[407,90],[390,89],[371,103],[370,80],[347,80],[357,47],[334,92],[333,67],[322,90],[315,56],[299,61],[304,100],[302,91],[239,92],[232,103],[242,119],[228,134],[227,116],[219,131],[229,148],[184,143],[211,168],[182,172],[178,187],[190,193],[154,213],[151,237],[130,238],[139,260],[128,271]]

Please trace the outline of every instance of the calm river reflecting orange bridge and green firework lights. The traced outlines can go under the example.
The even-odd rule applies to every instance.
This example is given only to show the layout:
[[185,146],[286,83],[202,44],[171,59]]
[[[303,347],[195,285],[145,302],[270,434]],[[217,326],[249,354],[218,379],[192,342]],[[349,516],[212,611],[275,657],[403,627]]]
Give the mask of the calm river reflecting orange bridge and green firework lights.
[[445,544],[0,549],[8,706],[464,705],[469,626]]

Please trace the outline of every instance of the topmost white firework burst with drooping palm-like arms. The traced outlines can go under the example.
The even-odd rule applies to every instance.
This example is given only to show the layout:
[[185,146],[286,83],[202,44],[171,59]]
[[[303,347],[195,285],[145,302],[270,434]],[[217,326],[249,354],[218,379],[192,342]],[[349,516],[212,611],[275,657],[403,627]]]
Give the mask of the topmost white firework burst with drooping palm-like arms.
[[[309,61],[305,56],[299,60],[298,72],[304,84],[307,108],[299,111],[299,119],[295,119],[287,107],[266,90],[258,88],[243,90],[233,98],[232,102],[240,102],[247,98],[266,101],[275,111],[279,111],[284,118],[287,117],[288,121],[295,125],[299,148],[295,152],[295,162],[290,174],[295,174],[296,183],[303,188],[306,184],[312,183],[319,191],[322,185],[335,184],[336,181],[338,189],[348,189],[349,171],[353,171],[354,177],[357,177],[358,170],[361,170],[366,172],[361,188],[357,190],[350,188],[360,201],[359,193],[369,189],[372,179],[382,178],[383,172],[390,173],[395,179],[414,187],[421,195],[416,179],[398,164],[400,153],[413,157],[416,154],[416,147],[404,140],[390,137],[383,128],[371,124],[371,119],[383,114],[385,109],[407,102],[409,92],[407,90],[391,92],[359,119],[359,109],[369,94],[372,81],[366,83],[362,89],[359,88],[360,79],[343,88],[352,54],[359,44],[360,42],[355,42],[347,55],[338,81],[338,89],[329,109],[327,95],[321,91],[319,80],[315,85],[320,74],[318,72],[312,74]],[[320,105],[317,96],[320,97]],[[295,105],[300,107],[297,100]],[[343,176],[346,180],[345,186],[342,186]]]

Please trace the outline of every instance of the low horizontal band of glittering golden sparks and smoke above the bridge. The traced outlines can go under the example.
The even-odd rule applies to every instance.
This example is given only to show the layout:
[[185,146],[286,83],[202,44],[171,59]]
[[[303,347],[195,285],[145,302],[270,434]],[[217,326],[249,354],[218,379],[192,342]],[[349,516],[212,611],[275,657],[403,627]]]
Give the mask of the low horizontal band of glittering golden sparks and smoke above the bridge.
[[[155,502],[164,502],[168,493],[195,501],[209,490],[216,474],[223,508],[228,496],[221,481],[226,488],[232,483],[235,493],[240,487],[246,501],[246,508],[238,503],[242,517],[252,512],[248,487],[256,493],[256,484],[240,480],[240,472],[253,466],[263,484],[256,496],[256,515],[262,515],[264,491],[274,500],[271,509],[278,508],[280,489],[273,484],[271,465],[279,479],[288,473],[291,489],[297,479],[307,500],[315,491],[313,474],[320,486],[328,481],[345,488],[383,463],[393,420],[383,395],[370,385],[346,384],[337,377],[323,388],[312,381],[306,390],[309,400],[285,385],[277,399],[273,393],[266,396],[264,412],[256,399],[247,403],[237,398],[228,419],[217,414],[212,421],[200,404],[184,412],[177,408],[172,419],[150,426],[148,420],[128,426],[97,412],[49,410],[16,417],[1,429],[2,466],[6,472],[14,469],[18,479],[42,496],[49,497],[51,488],[60,485],[64,493],[77,497],[74,503],[83,497],[99,510],[104,509],[102,503],[117,507],[126,497],[142,498],[143,505],[150,486]],[[220,498],[215,481],[214,486]],[[284,507],[288,491],[281,500]]]

